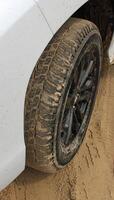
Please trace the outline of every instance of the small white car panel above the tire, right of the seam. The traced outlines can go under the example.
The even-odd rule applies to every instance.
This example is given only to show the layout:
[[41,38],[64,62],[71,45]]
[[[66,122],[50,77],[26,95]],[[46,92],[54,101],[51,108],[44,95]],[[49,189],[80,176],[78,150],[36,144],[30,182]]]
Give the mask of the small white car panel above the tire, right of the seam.
[[53,33],[88,0],[34,0],[45,15]]

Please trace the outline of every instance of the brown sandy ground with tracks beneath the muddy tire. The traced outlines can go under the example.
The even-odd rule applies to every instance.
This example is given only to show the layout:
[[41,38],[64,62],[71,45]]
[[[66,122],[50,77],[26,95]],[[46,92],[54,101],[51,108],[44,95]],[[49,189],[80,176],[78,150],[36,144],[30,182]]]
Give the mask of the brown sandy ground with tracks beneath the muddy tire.
[[99,94],[83,145],[55,175],[26,169],[0,200],[114,200],[114,66],[103,66]]

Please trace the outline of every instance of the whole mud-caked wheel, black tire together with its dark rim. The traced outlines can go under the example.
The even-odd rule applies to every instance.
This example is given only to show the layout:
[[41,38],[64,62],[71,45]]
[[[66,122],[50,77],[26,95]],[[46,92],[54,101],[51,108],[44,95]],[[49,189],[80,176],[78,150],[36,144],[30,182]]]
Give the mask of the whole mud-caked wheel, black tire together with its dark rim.
[[[91,61],[91,56],[95,60]],[[90,121],[101,60],[102,41],[99,30],[93,23],[86,20],[71,18],[48,44],[34,68],[26,93],[27,166],[46,173],[54,173],[67,165],[74,157],[82,144]],[[87,67],[85,64],[82,67],[82,61],[88,62]],[[81,89],[80,94],[77,95],[78,81],[80,84],[83,82],[82,71],[87,75],[91,64],[94,66],[92,66],[94,73],[91,69],[88,80],[92,80],[91,85],[93,84],[94,87],[91,86],[91,91],[90,88],[87,90],[88,102],[86,102],[86,97],[86,100],[80,103],[84,92]],[[86,84],[83,87],[87,87],[88,80],[83,83]],[[80,96],[79,99],[78,96]],[[75,111],[71,111],[71,107]],[[80,107],[80,113],[77,107]],[[82,108],[85,109],[83,112]],[[78,116],[79,123],[75,123],[75,112],[77,112],[76,117],[83,114],[82,118]],[[66,129],[66,121],[70,128]],[[66,139],[67,133],[69,139]],[[66,140],[68,140],[67,144]]]

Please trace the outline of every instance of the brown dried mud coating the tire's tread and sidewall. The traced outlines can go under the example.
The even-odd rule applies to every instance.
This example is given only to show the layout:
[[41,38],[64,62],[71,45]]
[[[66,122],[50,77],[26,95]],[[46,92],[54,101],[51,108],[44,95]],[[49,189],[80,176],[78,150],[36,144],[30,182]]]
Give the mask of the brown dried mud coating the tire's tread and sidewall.
[[[101,36],[95,24],[79,18],[70,18],[55,34],[38,60],[28,84],[25,101],[25,143],[28,167],[53,173],[63,168],[75,155],[84,133],[80,133],[82,135],[80,139],[77,137],[78,147],[76,142],[70,143],[68,148],[62,147],[59,130],[61,115],[70,79],[72,78],[73,81],[73,73],[79,65],[78,60],[82,59],[81,56],[84,56],[86,51],[90,51],[90,48],[97,49],[98,71],[102,58],[101,43]],[[95,81],[95,87],[97,82]],[[90,105],[88,115],[91,115],[93,104],[94,101]],[[89,122],[88,118],[84,130]],[[82,126],[81,124],[80,131]]]

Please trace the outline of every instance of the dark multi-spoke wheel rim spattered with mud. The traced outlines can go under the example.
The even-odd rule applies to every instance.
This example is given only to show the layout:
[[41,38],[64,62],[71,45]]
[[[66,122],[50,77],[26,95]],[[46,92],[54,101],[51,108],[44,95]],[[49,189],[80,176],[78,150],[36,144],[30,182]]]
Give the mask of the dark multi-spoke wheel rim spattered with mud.
[[[90,119],[99,77],[99,52],[93,46],[74,67],[59,125],[63,151],[78,150]],[[75,145],[74,145],[75,143]],[[73,147],[74,145],[74,147]]]

